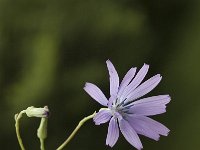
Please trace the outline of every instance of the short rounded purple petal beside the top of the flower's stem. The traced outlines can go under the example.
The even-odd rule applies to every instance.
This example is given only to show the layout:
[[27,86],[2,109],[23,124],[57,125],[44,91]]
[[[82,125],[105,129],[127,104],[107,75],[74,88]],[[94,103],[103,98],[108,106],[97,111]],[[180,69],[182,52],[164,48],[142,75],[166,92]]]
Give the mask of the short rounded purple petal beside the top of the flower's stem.
[[112,114],[109,109],[100,110],[93,118],[96,125],[106,123],[110,120]]

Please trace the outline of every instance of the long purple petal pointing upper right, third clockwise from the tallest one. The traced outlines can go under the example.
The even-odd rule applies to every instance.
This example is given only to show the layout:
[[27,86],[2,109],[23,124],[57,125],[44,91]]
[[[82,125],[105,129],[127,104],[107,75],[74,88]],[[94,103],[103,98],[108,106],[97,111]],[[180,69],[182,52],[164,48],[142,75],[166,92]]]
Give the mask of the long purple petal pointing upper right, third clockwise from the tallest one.
[[138,86],[134,91],[132,91],[128,96],[126,102],[135,100],[137,98],[140,98],[144,96],[145,94],[149,93],[151,90],[153,90],[158,83],[160,83],[162,77],[160,74],[157,74],[144,83],[142,83],[140,86]]

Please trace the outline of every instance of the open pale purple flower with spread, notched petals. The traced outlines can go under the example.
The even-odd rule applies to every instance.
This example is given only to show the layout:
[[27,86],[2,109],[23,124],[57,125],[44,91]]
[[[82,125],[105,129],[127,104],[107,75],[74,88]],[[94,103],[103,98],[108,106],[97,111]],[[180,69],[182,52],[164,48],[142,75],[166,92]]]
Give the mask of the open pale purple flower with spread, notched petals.
[[113,147],[119,138],[119,129],[125,139],[138,150],[143,148],[138,134],[154,140],[159,140],[160,135],[167,136],[169,129],[161,123],[149,118],[166,112],[166,104],[170,102],[169,95],[159,95],[141,98],[153,90],[162,77],[157,74],[141,83],[146,76],[149,65],[144,64],[136,74],[136,68],[131,68],[119,84],[119,76],[115,67],[106,61],[110,76],[110,98],[107,99],[103,92],[94,84],[86,83],[84,90],[102,108],[95,115],[96,125],[109,122],[106,145]]

